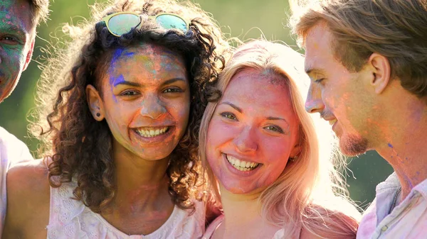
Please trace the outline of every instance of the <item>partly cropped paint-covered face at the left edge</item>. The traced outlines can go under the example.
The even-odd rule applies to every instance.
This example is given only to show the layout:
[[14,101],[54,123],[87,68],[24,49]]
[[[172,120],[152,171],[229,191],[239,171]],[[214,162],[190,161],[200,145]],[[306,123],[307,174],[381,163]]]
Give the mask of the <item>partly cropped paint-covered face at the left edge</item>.
[[0,102],[15,89],[32,52],[35,26],[26,0],[0,2]]

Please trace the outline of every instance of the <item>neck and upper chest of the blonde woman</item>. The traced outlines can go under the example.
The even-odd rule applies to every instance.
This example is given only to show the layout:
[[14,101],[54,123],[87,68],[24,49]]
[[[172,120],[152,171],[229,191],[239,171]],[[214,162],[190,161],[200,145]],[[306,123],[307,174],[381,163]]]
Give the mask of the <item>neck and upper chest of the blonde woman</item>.
[[232,194],[221,186],[220,191],[225,219],[218,228],[219,238],[264,238],[280,229],[260,215],[259,194]]

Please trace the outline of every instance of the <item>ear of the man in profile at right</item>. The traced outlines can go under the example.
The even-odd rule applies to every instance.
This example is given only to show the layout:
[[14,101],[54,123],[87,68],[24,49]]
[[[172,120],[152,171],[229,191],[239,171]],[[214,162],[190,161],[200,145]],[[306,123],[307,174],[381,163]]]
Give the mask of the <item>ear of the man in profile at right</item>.
[[391,68],[389,59],[384,57],[384,55],[372,53],[369,57],[368,64],[371,66],[371,74],[373,74],[370,84],[374,87],[376,94],[381,94],[390,81]]

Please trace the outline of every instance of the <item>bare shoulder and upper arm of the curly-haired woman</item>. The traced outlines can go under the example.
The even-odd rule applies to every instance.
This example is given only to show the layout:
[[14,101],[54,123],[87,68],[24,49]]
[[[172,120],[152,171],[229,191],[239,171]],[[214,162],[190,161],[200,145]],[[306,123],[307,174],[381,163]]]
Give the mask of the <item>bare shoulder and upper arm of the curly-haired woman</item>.
[[[50,209],[48,168],[42,160],[22,162],[6,176],[4,238],[38,238],[45,233]],[[40,230],[38,230],[40,228]],[[43,236],[41,236],[43,237]],[[46,238],[46,236],[45,236]]]

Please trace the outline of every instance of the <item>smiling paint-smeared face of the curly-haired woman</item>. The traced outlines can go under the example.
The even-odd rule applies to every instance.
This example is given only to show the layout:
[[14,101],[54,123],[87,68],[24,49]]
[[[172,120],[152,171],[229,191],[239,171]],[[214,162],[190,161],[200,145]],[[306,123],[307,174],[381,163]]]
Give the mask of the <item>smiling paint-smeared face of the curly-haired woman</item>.
[[[115,50],[102,78],[105,119],[113,150],[144,160],[168,157],[189,120],[190,89],[184,60],[155,45]],[[170,65],[165,71],[161,65]]]

